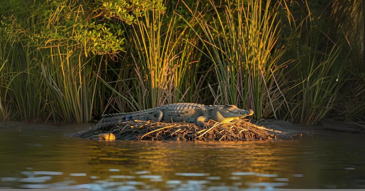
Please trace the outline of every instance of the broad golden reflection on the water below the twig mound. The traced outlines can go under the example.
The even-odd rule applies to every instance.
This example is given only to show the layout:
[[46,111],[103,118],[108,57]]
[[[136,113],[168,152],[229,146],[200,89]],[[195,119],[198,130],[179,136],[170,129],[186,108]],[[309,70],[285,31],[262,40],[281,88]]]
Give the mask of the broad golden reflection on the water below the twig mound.
[[[280,161],[294,163],[297,159],[291,157],[288,161],[287,156],[275,154],[296,152],[293,147],[273,147],[280,145],[276,142],[139,142],[134,151],[123,149],[131,142],[91,144],[88,164],[92,166],[92,174],[100,176],[100,179],[108,179],[111,174],[135,176],[135,172],[148,171],[150,175],[160,175],[164,181],[207,180],[207,176],[213,176],[227,185],[235,182],[274,182],[273,177],[287,169]],[[109,168],[116,168],[116,165],[119,172],[105,173]],[[273,177],[232,175],[237,172],[255,172]],[[208,175],[178,176],[177,173]],[[148,179],[136,179],[149,182]],[[163,183],[156,185],[162,186]]]

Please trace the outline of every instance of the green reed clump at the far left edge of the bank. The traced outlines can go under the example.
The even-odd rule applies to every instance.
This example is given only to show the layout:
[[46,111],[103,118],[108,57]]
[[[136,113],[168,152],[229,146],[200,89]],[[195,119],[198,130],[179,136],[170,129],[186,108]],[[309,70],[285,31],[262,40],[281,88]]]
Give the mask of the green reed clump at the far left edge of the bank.
[[[45,102],[42,96],[44,92],[42,77],[37,75],[37,56],[32,42],[26,40],[27,33],[30,32],[27,25],[35,24],[34,17],[27,20],[8,16],[8,20],[3,21],[3,63],[2,63],[2,97],[5,103],[12,103],[16,113],[6,114],[10,104],[5,106],[4,118],[12,115],[13,119],[21,119],[25,122],[36,122],[41,118],[44,111]],[[14,27],[11,28],[10,26]],[[3,100],[1,100],[3,101]],[[9,112],[9,110],[8,110]],[[15,118],[15,114],[16,118]]]

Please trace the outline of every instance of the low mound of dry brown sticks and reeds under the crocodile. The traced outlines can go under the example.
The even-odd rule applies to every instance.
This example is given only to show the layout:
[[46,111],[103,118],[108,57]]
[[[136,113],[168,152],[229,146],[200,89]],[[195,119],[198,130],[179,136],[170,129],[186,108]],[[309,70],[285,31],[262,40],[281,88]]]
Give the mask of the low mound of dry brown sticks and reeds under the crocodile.
[[[250,123],[248,119],[228,123],[209,122],[208,128],[195,124],[177,122],[164,123],[153,121],[127,121],[120,126],[103,130],[100,136],[114,134],[117,140],[270,140],[264,127]],[[101,139],[99,136],[92,138]]]

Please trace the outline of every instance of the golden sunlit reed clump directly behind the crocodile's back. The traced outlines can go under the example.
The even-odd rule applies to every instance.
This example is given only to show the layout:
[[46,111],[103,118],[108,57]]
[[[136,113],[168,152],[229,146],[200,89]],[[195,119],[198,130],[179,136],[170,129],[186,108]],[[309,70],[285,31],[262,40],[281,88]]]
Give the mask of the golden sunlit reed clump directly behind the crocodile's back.
[[177,16],[170,17],[166,24],[164,18],[163,13],[152,12],[133,25],[138,55],[133,56],[138,77],[133,101],[139,109],[194,99],[194,68],[199,55],[188,43],[193,39],[184,39],[189,38],[188,28],[176,30]]

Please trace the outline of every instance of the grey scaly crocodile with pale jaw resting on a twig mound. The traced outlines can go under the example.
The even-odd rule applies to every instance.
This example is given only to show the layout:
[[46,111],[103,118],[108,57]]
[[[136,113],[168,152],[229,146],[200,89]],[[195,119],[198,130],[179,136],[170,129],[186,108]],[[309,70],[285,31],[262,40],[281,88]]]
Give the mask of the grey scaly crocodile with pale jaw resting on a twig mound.
[[91,128],[91,130],[84,132],[81,137],[88,133],[100,129],[112,128],[121,125],[122,122],[132,120],[186,122],[206,128],[209,120],[224,123],[250,115],[253,115],[251,109],[241,110],[235,105],[205,106],[196,103],[174,103],[142,111],[102,115],[99,123]]

